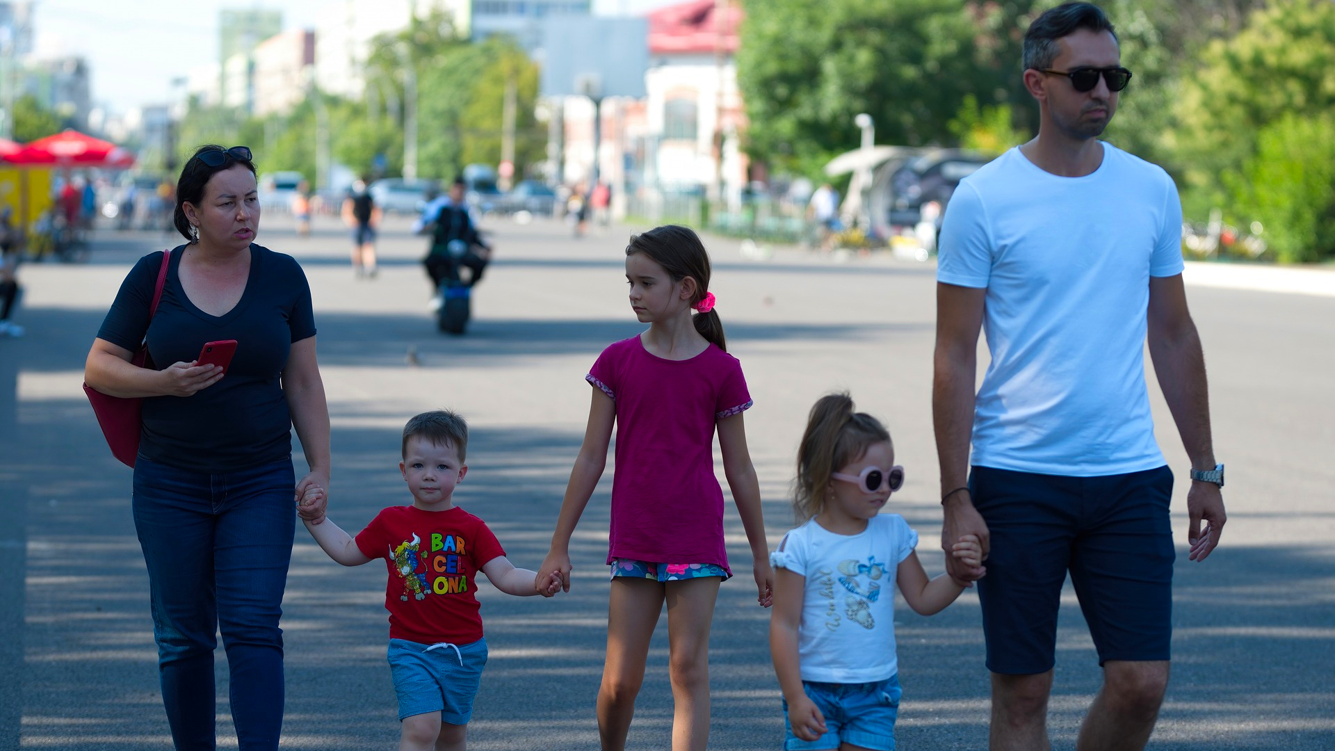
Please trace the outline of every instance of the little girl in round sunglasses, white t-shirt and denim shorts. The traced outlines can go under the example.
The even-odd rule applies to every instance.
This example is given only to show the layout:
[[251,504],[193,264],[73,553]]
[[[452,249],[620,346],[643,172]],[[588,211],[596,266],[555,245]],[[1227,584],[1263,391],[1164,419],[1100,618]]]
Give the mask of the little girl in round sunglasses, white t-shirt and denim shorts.
[[[804,524],[770,556],[769,648],[784,691],[784,748],[894,748],[894,587],[921,615],[964,591],[944,573],[929,580],[913,552],[917,532],[902,516],[880,513],[901,486],[885,426],[854,413],[848,394],[817,401],[797,453],[793,505]],[[965,535],[952,555],[979,565],[983,549]]]

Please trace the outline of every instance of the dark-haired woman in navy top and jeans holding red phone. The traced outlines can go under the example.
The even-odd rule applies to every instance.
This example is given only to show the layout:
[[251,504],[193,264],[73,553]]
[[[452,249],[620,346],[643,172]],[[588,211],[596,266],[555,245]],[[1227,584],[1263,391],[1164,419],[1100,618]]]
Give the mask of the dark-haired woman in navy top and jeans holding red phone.
[[[324,505],[294,512],[294,500],[330,481],[311,291],[296,261],[254,243],[259,215],[251,150],[196,150],[174,215],[188,242],[167,257],[156,313],[162,251],[125,277],[84,369],[104,394],[143,397],[132,508],[176,748],[215,746],[215,631],[240,748],[278,748],[295,517]],[[140,342],[158,365],[131,363]],[[294,425],[310,465],[300,481]]]

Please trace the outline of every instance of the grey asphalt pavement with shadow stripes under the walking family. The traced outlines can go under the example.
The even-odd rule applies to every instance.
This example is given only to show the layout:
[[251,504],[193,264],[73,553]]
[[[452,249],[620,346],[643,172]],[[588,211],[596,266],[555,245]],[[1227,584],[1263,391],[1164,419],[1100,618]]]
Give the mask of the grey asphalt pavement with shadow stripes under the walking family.
[[[582,438],[583,374],[603,346],[639,330],[622,277],[630,230],[575,241],[553,222],[485,224],[497,262],[475,291],[469,334],[458,338],[434,330],[417,263],[423,242],[405,219],[388,222],[374,281],[354,278],[350,239],[332,219],[300,239],[286,218],[266,216],[259,239],[296,257],[314,291],[334,425],[332,518],[356,531],[380,508],[407,502],[399,430],[414,413],[449,406],[473,433],[471,470],[455,501],[487,520],[515,564],[535,568]],[[107,452],[79,389],[121,278],[167,242],[103,233],[89,263],[21,269],[19,321],[28,335],[0,339],[0,750],[171,747],[131,472]],[[918,529],[920,556],[929,572],[941,571],[929,400],[934,269],[884,255],[780,249],[756,258],[734,241],[709,246],[729,351],[756,398],[745,420],[770,544],[792,522],[786,493],[806,412],[822,393],[846,388],[889,425],[908,468],[889,510]],[[1173,676],[1151,747],[1335,748],[1335,298],[1204,286],[1188,294],[1210,366],[1216,453],[1228,464],[1230,521],[1210,560],[1187,561],[1187,460],[1152,385],[1159,440],[1179,474],[1179,561]],[[609,461],[573,543],[569,595],[519,599],[479,587],[491,657],[471,748],[598,747],[610,482]],[[722,587],[713,625],[710,748],[778,748],[768,612],[754,603],[732,508],[726,524],[737,577]],[[396,743],[383,592],[382,565],[344,569],[298,527],[283,617],[284,748]],[[901,607],[897,632],[901,747],[984,748],[988,676],[976,596],[929,619]],[[670,746],[666,660],[663,619],[631,748]],[[220,747],[235,747],[222,649],[218,676]],[[1099,682],[1068,587],[1051,711],[1056,748],[1073,747]]]

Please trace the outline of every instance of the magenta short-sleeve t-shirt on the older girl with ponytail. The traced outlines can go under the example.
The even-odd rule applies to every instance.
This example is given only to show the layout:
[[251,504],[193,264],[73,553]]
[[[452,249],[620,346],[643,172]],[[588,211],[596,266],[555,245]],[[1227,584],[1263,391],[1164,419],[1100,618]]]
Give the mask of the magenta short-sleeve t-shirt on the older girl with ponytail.
[[607,563],[728,569],[714,424],[752,406],[741,363],[716,345],[690,359],[663,359],[631,337],[602,350],[586,380],[617,402]]

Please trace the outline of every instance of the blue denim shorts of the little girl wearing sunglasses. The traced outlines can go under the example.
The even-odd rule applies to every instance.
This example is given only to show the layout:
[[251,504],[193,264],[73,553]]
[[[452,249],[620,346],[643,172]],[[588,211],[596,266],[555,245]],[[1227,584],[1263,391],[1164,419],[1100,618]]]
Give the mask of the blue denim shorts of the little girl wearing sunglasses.
[[788,702],[784,702],[785,751],[814,751],[838,748],[841,743],[861,746],[872,751],[893,751],[894,720],[900,715],[900,676],[892,675],[873,683],[816,683],[802,682],[802,691],[816,703],[825,718],[825,735],[816,740],[802,740],[793,735],[788,722]]

